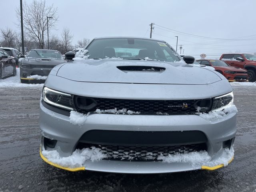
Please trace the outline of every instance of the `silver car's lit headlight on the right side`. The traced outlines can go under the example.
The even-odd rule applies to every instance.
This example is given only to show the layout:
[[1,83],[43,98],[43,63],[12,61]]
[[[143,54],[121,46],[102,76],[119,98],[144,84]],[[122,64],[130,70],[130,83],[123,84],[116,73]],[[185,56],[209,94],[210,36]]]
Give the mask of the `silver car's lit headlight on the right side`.
[[226,106],[232,105],[233,101],[234,101],[233,92],[230,92],[222,96],[214,97],[213,104],[212,104],[212,111],[221,111]]

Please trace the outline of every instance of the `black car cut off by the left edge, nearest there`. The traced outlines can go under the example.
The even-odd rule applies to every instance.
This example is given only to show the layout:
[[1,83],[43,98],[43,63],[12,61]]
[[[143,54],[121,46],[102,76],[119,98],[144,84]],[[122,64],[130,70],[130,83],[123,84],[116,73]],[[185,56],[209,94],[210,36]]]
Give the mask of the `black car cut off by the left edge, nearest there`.
[[0,49],[0,79],[16,76],[16,62],[5,50]]

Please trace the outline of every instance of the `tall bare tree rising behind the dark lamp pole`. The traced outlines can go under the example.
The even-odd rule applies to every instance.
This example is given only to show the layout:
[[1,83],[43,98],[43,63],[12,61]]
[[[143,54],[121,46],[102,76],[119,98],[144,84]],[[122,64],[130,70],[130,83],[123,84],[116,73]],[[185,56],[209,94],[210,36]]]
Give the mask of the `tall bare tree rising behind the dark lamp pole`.
[[[48,19],[48,28],[54,28],[58,20],[58,9],[53,4],[46,6],[45,0],[33,0],[30,4],[24,2],[22,6],[24,32],[30,40],[36,41],[39,47],[43,49],[47,17],[53,17]],[[16,17],[20,21],[20,7],[16,8]]]

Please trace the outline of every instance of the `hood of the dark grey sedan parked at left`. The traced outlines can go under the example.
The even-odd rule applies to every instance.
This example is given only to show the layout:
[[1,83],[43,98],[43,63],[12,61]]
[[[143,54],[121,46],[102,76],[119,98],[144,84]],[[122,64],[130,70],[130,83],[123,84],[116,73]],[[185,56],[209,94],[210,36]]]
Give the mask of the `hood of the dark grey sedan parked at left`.
[[40,64],[40,65],[58,65],[65,63],[66,60],[63,59],[54,59],[54,58],[24,58],[22,59],[22,63],[26,64]]

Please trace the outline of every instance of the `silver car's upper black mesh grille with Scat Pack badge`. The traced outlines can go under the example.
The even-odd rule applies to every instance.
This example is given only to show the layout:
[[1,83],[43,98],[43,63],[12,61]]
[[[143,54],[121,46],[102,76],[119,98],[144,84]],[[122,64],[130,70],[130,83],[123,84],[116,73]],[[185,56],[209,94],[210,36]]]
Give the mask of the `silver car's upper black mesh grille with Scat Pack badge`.
[[[114,113],[113,111],[105,110],[116,108],[116,110],[126,109],[132,112],[139,112],[140,115],[185,115],[195,114],[197,112],[197,104],[202,100],[126,100],[76,96],[74,101],[78,112],[86,114],[88,112],[95,113],[96,109],[104,111],[104,113]],[[204,102],[205,104],[208,105],[208,110],[205,112],[209,112],[212,104],[211,100]],[[124,113],[120,112],[120,114]]]

